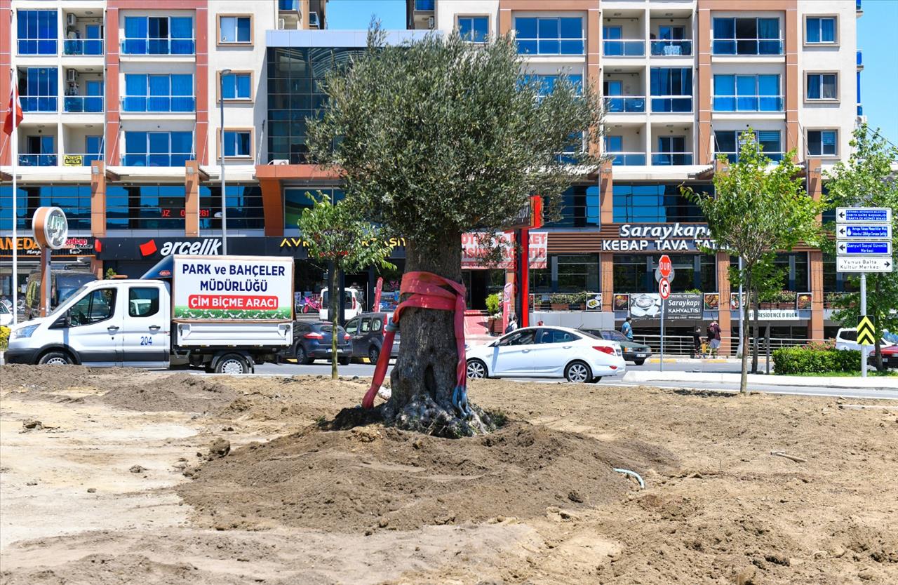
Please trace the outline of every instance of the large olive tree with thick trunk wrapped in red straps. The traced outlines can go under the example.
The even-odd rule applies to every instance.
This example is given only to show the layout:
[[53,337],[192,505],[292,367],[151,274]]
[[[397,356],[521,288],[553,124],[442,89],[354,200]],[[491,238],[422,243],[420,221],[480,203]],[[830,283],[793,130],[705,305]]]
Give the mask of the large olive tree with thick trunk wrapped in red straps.
[[[406,272],[460,283],[462,233],[502,230],[531,195],[558,196],[597,170],[583,145],[597,144],[600,102],[566,77],[543,92],[508,37],[384,39],[374,27],[365,54],[328,77],[310,151],[341,175],[342,205],[405,238]],[[489,428],[480,409],[453,406],[453,312],[405,310],[401,331],[384,420],[445,436]]]

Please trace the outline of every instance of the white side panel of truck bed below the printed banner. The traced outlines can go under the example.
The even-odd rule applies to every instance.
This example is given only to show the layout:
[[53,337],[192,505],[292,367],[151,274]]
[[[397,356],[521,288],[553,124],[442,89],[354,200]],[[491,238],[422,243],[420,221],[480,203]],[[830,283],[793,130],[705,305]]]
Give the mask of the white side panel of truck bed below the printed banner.
[[293,344],[292,322],[197,322],[174,323],[174,345],[276,346]]

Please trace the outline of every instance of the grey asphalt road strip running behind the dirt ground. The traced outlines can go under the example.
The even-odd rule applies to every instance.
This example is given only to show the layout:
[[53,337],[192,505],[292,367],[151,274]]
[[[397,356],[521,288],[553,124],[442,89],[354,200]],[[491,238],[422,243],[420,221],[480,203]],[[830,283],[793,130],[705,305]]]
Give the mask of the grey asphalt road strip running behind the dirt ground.
[[[392,367],[391,367],[392,369]],[[649,370],[650,369],[650,370]],[[657,363],[646,363],[636,366],[627,364],[628,371],[657,371]],[[738,372],[738,363],[665,363],[665,371],[718,371]],[[330,375],[330,363],[315,362],[313,365],[297,365],[295,363],[271,364],[265,363],[256,367],[256,373],[261,375]],[[339,366],[340,376],[368,377],[374,374],[374,365],[368,363],[352,363],[347,366]],[[387,370],[387,376],[390,370]],[[535,382],[542,384],[559,384],[563,380],[547,380],[544,378],[510,378],[520,382]],[[670,389],[707,390],[711,392],[732,393],[739,390],[738,384],[726,384],[715,382],[624,382],[619,378],[604,378],[598,382],[602,386],[655,386]],[[845,397],[845,398],[883,398],[898,400],[898,390],[885,389],[843,389],[843,388],[814,388],[807,386],[778,386],[774,384],[752,384],[749,389],[768,392],[770,394],[794,394],[801,396]]]

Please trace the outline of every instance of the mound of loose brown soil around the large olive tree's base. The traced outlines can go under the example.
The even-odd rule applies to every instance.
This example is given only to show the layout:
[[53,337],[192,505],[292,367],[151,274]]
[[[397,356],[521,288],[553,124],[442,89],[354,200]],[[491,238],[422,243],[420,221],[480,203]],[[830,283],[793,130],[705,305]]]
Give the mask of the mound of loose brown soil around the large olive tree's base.
[[412,529],[545,516],[618,501],[634,488],[612,467],[667,468],[672,453],[529,423],[460,440],[381,425],[251,444],[177,490],[208,527]]

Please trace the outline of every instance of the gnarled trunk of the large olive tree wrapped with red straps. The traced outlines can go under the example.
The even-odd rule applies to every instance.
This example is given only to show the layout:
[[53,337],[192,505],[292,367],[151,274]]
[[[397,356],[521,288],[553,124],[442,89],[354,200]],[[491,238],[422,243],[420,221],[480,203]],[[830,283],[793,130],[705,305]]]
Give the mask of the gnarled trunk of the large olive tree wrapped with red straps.
[[[447,238],[445,247],[437,250],[420,249],[408,241],[405,253],[407,274],[431,272],[462,281],[460,234]],[[401,301],[408,297],[402,295]],[[392,395],[381,407],[386,423],[444,437],[470,436],[493,428],[479,407],[469,403],[470,415],[464,415],[453,404],[458,363],[454,318],[450,310],[402,310],[402,343],[391,374]]]

